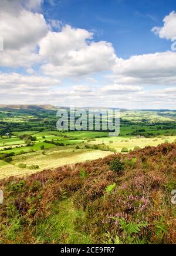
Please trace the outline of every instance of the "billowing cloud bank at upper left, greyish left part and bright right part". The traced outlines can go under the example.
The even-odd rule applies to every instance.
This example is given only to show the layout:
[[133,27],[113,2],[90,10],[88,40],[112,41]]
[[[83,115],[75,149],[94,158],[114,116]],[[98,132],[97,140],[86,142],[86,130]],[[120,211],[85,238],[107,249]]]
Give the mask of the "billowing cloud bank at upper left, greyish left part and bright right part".
[[[47,25],[44,16],[36,12],[42,0],[14,0],[12,5],[9,0],[2,2],[0,35],[4,52],[0,65],[31,67],[40,62],[45,75],[60,78],[111,71],[116,54],[109,42],[93,42],[92,32],[62,26],[54,19]],[[61,31],[54,32],[53,27]]]

